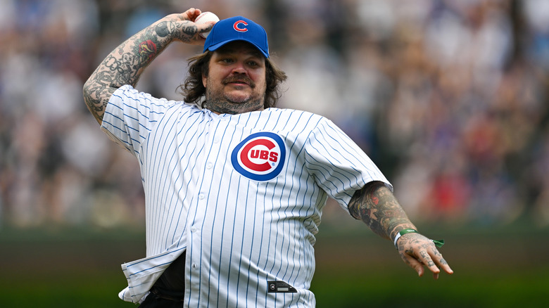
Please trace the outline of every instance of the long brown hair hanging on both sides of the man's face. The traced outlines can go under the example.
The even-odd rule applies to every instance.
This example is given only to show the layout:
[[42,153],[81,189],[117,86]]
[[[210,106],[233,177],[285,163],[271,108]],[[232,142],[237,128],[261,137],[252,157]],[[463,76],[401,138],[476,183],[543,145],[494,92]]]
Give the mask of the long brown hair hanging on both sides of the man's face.
[[[208,76],[210,59],[212,51],[206,51],[201,55],[189,59],[189,75],[177,89],[183,95],[185,103],[199,103],[206,94],[206,88],[202,84],[202,76]],[[265,58],[265,104],[264,108],[271,108],[277,105],[277,101],[282,96],[280,85],[286,80],[286,73],[270,60]],[[202,107],[204,105],[202,102]]]

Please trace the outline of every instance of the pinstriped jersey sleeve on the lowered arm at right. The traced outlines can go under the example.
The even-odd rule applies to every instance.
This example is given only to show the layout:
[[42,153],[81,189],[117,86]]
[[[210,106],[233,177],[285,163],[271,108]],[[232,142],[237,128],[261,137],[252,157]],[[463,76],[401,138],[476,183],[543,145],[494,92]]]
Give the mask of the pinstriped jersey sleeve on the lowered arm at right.
[[393,186],[367,154],[332,121],[323,119],[305,144],[305,165],[317,185],[348,211],[355,191],[370,181]]

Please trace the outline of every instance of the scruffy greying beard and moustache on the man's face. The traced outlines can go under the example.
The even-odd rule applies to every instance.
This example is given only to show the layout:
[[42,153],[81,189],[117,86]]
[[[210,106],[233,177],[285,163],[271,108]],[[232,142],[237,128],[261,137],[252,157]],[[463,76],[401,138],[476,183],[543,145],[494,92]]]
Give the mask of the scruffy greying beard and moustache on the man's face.
[[[231,82],[245,82],[250,86],[248,95],[231,94],[224,91],[224,87]],[[212,84],[208,77],[207,84]],[[222,81],[222,86],[206,87],[206,108],[216,113],[236,115],[255,110],[263,110],[265,102],[265,88],[256,91],[256,84],[247,76],[229,76]]]

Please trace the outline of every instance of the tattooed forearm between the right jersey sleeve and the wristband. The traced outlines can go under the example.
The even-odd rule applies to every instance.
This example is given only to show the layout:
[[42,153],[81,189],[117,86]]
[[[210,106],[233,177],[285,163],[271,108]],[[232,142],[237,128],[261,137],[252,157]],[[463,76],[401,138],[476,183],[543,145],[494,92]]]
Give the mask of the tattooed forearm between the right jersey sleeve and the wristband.
[[415,229],[391,190],[381,181],[372,181],[356,191],[348,209],[351,216],[365,222],[383,238],[392,240],[402,229]]

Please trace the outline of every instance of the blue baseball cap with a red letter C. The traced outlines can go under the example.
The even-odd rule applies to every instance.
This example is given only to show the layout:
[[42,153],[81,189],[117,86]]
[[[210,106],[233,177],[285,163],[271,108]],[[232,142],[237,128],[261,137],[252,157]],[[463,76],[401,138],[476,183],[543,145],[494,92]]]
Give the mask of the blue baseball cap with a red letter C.
[[257,47],[265,58],[269,58],[267,32],[259,24],[242,16],[227,18],[215,23],[206,37],[203,52],[215,51],[231,41],[247,41]]

